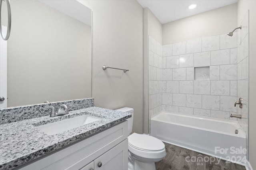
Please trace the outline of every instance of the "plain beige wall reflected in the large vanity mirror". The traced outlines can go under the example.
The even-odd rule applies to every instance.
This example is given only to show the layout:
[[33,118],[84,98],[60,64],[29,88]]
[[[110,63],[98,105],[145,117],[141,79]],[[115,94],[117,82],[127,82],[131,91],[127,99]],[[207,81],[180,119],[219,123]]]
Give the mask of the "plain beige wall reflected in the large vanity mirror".
[[91,97],[91,27],[36,0],[11,6],[8,107]]

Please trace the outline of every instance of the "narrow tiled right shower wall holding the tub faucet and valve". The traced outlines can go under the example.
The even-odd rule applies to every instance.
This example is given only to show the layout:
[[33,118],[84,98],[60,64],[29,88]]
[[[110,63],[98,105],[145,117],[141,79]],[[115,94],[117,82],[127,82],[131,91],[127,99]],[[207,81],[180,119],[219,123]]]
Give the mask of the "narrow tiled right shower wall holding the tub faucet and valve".
[[249,30],[248,30],[248,12],[242,21],[242,29],[238,30],[238,51],[237,51],[237,80],[238,80],[238,98],[243,98],[244,106],[238,108],[238,114],[245,117],[238,119],[241,127],[248,134],[248,77],[249,77]]

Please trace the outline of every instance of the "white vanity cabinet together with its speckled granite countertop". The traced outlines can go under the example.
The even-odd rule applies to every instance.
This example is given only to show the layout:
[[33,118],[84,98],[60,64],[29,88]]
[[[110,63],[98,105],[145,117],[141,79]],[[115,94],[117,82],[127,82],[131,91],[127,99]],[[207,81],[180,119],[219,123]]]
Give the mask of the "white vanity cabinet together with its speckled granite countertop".
[[[60,122],[78,116],[82,122],[86,116],[97,119],[52,135],[40,129],[45,125],[58,128]],[[0,125],[0,170],[127,170],[129,117],[130,113],[86,107],[62,116],[4,123]],[[67,122],[65,125],[69,126]]]

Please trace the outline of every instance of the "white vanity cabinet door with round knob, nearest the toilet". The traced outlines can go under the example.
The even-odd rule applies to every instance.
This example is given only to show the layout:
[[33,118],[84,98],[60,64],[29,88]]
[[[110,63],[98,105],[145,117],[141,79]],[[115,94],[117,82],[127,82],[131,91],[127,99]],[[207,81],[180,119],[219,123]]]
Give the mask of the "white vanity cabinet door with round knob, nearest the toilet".
[[128,170],[128,139],[94,160],[95,170]]

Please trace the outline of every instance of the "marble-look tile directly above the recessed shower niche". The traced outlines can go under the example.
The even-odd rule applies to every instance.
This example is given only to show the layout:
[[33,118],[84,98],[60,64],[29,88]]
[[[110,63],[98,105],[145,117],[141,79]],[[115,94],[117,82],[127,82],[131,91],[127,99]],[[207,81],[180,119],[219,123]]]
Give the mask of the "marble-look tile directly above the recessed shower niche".
[[210,66],[211,53],[194,53],[194,67]]

